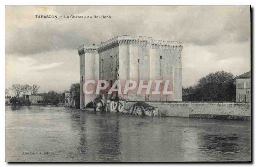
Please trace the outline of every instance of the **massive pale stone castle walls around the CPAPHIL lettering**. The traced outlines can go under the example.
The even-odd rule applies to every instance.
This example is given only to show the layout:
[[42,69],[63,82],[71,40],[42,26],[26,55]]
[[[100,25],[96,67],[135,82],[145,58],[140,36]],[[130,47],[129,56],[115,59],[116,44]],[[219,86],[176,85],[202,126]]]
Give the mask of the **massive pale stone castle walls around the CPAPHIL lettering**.
[[[154,40],[151,37],[123,35],[99,45],[78,48],[80,57],[80,108],[97,97],[84,94],[86,80],[107,80],[110,86],[120,80],[169,80],[169,95],[137,95],[130,92],[127,100],[182,101],[181,42]],[[161,88],[160,88],[161,89]]]

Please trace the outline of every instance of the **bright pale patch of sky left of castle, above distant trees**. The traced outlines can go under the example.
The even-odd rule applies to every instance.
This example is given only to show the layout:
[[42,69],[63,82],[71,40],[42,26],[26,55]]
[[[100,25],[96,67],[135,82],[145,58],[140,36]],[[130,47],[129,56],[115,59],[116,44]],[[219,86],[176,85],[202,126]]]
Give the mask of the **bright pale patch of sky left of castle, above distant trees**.
[[60,50],[27,56],[7,54],[6,87],[12,84],[37,84],[40,92],[68,90],[79,82],[79,56],[76,50]]

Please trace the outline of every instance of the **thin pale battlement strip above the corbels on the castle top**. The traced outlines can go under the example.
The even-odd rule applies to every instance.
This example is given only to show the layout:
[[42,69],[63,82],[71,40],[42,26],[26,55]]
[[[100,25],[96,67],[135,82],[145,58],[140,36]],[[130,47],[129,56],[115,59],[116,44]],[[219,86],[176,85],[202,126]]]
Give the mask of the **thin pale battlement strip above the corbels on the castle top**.
[[146,36],[131,36],[131,35],[122,35],[122,36],[116,36],[115,38],[112,38],[110,40],[107,40],[105,42],[101,42],[99,45],[82,45],[78,47],[78,51],[87,48],[87,49],[92,49],[92,50],[97,50],[100,47],[104,47],[108,44],[111,44],[116,41],[122,41],[122,40],[133,40],[133,41],[144,41],[150,44],[155,44],[155,45],[168,45],[168,46],[181,46],[182,47],[182,42],[177,42],[177,41],[167,41],[167,40],[154,40],[152,37],[146,37]]

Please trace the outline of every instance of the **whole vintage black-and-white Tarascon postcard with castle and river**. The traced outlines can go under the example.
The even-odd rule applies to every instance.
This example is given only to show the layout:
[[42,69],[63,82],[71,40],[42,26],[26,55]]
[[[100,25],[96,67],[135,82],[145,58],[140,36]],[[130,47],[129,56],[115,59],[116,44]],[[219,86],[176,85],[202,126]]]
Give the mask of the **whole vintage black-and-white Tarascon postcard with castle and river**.
[[6,6],[7,162],[250,162],[250,6]]

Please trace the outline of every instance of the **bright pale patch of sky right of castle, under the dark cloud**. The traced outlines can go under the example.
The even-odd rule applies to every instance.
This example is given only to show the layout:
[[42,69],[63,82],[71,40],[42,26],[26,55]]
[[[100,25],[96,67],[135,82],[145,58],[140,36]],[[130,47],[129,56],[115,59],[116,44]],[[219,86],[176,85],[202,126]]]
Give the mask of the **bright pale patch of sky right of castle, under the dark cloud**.
[[[222,46],[222,47],[221,47]],[[236,75],[251,69],[250,45],[222,43],[220,46],[187,45],[182,51],[182,85],[194,85],[211,72],[224,70]]]

